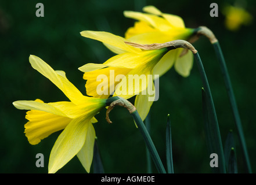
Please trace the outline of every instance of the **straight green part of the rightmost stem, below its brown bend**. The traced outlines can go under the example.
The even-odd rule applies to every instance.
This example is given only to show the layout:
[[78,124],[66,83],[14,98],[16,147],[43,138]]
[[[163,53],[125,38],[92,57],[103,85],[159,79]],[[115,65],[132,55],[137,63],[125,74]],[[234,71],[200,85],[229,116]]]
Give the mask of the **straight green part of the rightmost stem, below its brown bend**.
[[249,159],[249,155],[248,155],[248,151],[247,151],[247,147],[246,147],[246,140],[244,139],[244,134],[243,134],[243,127],[241,125],[241,120],[240,120],[239,112],[237,109],[236,99],[235,99],[235,95],[233,92],[232,84],[230,82],[228,69],[226,67],[226,62],[223,57],[223,53],[221,50],[221,46],[219,45],[219,42],[215,42],[212,45],[214,46],[214,50],[217,55],[219,65],[221,66],[221,72],[222,72],[223,79],[225,82],[226,91],[228,92],[229,101],[231,104],[233,116],[234,116],[235,123],[236,123],[236,128],[237,128],[238,135],[239,135],[239,141],[240,141],[240,144],[241,144],[241,147],[243,150],[244,160],[246,161],[247,172],[252,173],[250,159]]

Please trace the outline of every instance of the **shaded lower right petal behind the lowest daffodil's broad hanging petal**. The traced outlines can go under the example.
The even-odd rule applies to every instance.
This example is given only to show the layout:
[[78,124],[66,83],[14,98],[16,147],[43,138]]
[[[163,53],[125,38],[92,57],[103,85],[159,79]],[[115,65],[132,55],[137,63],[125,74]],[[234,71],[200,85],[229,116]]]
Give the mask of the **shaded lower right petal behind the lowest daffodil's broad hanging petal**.
[[92,164],[95,137],[95,129],[93,128],[92,124],[89,124],[84,146],[77,153],[78,159],[80,160],[82,166],[84,166],[86,172],[88,173],[90,172]]

